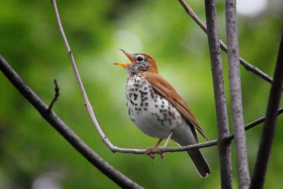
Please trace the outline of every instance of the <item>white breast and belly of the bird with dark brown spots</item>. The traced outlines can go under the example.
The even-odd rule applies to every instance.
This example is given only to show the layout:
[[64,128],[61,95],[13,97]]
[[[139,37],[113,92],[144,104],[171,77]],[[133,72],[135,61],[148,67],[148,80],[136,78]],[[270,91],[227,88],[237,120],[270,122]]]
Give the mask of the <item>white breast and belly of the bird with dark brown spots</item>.
[[184,122],[176,108],[157,94],[141,74],[127,79],[126,99],[131,120],[149,136],[165,139]]

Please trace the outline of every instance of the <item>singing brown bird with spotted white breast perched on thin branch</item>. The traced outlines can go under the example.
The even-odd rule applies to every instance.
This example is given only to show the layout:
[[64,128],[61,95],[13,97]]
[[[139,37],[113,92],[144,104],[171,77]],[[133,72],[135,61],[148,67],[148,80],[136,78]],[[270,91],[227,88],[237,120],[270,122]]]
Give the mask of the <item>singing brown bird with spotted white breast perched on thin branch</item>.
[[[130,54],[119,48],[131,63],[113,63],[123,66],[128,74],[126,82],[126,105],[129,116],[136,127],[148,136],[158,138],[152,149],[160,153],[171,139],[179,146],[198,143],[197,133],[208,140],[185,100],[180,97],[174,87],[158,74],[156,61],[145,53]],[[166,139],[164,146],[158,147]],[[210,167],[200,149],[187,151],[196,170],[201,177],[210,175]]]

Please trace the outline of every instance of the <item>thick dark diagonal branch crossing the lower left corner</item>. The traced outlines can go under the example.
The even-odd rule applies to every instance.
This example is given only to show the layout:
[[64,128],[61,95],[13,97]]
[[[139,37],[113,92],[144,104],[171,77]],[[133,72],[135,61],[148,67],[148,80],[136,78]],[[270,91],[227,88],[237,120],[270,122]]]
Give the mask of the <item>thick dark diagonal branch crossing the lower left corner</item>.
[[16,71],[0,55],[0,70],[19,90],[19,92],[37,109],[42,117],[47,120],[85,159],[97,167],[103,174],[113,180],[122,188],[142,188],[140,185],[130,180],[121,172],[112,167],[108,162],[95,153],[87,144],[84,143],[56,113],[48,110],[48,106],[39,96],[24,82]]

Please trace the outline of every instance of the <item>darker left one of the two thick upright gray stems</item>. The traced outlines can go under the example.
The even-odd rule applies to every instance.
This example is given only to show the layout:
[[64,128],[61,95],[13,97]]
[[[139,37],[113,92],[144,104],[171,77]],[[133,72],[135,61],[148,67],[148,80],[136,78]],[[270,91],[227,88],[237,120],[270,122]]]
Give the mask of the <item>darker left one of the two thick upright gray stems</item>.
[[229,135],[229,125],[215,0],[205,0],[205,16],[217,118],[221,188],[232,189],[231,143],[224,140]]

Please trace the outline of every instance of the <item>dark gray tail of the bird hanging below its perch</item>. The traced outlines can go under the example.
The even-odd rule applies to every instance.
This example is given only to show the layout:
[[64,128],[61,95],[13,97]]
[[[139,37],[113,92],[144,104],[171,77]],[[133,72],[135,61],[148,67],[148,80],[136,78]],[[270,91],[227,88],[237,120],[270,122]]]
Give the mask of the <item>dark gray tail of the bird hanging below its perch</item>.
[[187,153],[191,157],[192,162],[194,163],[195,168],[197,169],[200,176],[203,178],[208,177],[208,175],[210,174],[210,168],[205,158],[203,157],[203,154],[200,152],[200,149],[190,150],[187,151]]

